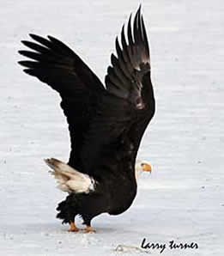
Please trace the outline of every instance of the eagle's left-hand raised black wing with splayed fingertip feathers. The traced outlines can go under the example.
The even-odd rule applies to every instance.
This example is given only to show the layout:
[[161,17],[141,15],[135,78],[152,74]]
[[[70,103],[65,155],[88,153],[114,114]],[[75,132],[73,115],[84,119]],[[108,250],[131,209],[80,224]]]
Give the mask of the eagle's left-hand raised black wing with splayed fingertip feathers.
[[30,34],[34,41],[22,43],[29,51],[19,53],[32,60],[20,61],[28,75],[36,76],[61,95],[61,107],[67,117],[70,130],[70,166],[81,168],[79,149],[88,131],[89,119],[99,95],[105,91],[99,78],[88,66],[61,41]]

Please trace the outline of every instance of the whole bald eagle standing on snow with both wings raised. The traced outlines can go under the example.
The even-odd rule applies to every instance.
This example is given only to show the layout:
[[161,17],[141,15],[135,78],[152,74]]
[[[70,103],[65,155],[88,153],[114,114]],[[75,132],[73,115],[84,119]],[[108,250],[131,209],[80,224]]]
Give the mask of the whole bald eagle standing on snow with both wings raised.
[[[126,34],[126,35],[125,35]],[[32,51],[19,51],[24,72],[36,76],[61,96],[61,107],[70,130],[71,151],[66,164],[46,159],[59,188],[68,192],[58,204],[58,218],[79,229],[82,216],[86,232],[94,232],[91,220],[107,212],[118,215],[136,197],[136,181],[148,162],[136,162],[142,135],[154,116],[154,91],[150,78],[148,39],[141,6],[134,20],[122,27],[111,55],[105,86],[79,56],[60,40],[30,34],[22,40]]]

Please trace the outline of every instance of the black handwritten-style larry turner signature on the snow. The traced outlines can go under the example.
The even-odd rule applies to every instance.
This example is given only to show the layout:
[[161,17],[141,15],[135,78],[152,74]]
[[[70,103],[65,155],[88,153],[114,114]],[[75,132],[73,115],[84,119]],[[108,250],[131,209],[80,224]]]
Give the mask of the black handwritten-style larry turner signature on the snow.
[[170,250],[185,250],[185,249],[198,249],[198,245],[196,242],[191,243],[182,243],[182,242],[175,242],[175,241],[169,241],[168,243],[158,243],[158,242],[147,242],[146,238],[142,239],[141,247],[143,249],[152,249],[152,250],[160,250],[160,253],[163,253],[166,248],[169,248]]

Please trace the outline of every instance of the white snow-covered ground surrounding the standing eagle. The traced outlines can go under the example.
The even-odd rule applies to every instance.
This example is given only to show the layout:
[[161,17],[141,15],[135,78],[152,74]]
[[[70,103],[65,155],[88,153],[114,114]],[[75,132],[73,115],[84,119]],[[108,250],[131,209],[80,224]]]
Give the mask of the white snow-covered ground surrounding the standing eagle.
[[[143,174],[123,215],[94,219],[96,234],[69,234],[55,218],[65,196],[42,161],[67,161],[69,133],[51,88],[16,64],[27,34],[51,34],[71,46],[103,80],[120,33],[139,2],[1,1],[0,252],[1,255],[162,255],[224,251],[224,3],[142,0],[150,40],[157,111],[142,141]],[[197,243],[171,249],[169,241]]]

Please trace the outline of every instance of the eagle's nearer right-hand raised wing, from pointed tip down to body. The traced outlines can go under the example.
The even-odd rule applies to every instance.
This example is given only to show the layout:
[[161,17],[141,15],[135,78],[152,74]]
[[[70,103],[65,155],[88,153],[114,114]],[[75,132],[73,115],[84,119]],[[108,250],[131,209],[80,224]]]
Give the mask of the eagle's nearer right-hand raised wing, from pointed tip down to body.
[[148,39],[140,8],[133,26],[130,16],[127,38],[123,27],[121,46],[116,39],[117,57],[112,54],[112,66],[107,70],[108,94],[101,97],[98,112],[84,138],[82,162],[89,172],[91,168],[97,169],[94,167],[99,162],[106,167],[109,159],[125,157],[123,152],[131,155],[133,166],[142,135],[154,115]]

